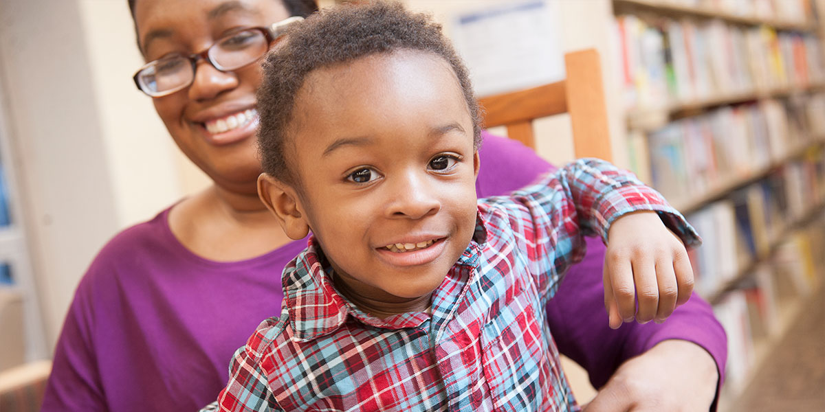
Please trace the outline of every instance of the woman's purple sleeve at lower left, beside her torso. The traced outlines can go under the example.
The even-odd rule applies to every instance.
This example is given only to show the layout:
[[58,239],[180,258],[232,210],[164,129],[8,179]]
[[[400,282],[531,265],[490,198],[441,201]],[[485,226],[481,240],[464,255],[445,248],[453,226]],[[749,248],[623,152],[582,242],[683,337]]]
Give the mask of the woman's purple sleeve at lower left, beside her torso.
[[91,288],[87,274],[75,291],[60,331],[41,411],[108,410],[92,339]]

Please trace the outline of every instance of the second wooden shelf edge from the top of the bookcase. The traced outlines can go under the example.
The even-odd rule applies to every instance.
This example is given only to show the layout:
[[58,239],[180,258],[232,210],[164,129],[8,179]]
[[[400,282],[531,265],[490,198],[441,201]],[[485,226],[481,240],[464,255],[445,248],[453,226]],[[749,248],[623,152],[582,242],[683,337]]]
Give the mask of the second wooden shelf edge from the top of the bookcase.
[[794,93],[818,91],[823,89],[825,89],[825,82],[815,82],[807,85],[774,87],[767,90],[753,90],[741,93],[711,96],[695,101],[672,102],[663,105],[660,109],[642,108],[628,110],[626,122],[629,129],[649,131],[661,128],[672,120],[673,115],[683,112],[695,112],[719,105],[734,105],[737,103],[744,103],[746,101],[757,101],[762,99],[790,96]]

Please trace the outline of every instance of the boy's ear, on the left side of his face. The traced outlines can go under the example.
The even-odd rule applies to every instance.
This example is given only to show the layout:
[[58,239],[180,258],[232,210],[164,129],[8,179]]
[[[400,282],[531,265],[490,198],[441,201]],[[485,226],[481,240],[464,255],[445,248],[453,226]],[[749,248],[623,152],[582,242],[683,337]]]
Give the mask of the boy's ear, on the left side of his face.
[[286,236],[298,240],[309,234],[309,223],[295,188],[266,173],[258,176],[257,186],[258,197],[281,223]]

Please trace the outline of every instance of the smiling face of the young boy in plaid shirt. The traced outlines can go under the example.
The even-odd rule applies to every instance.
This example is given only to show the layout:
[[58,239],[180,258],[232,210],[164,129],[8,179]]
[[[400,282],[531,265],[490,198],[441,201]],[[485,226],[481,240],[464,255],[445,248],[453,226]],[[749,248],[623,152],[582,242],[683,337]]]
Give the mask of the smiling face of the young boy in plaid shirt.
[[477,212],[473,124],[450,65],[402,50],[318,69],[294,110],[287,219],[314,232],[337,288],[361,309],[426,309]]

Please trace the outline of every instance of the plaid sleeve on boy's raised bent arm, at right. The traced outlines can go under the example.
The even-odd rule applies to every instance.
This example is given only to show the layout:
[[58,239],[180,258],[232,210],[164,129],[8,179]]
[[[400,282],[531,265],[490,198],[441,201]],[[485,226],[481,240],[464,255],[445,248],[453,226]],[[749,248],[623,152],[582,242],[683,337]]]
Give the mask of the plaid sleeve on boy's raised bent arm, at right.
[[530,273],[545,300],[558,288],[561,274],[582,260],[582,236],[607,240],[610,224],[626,213],[650,210],[681,238],[698,246],[700,238],[676,209],[633,174],[599,159],[579,159],[549,173],[537,184],[490,199],[507,209],[516,242],[526,251]]

